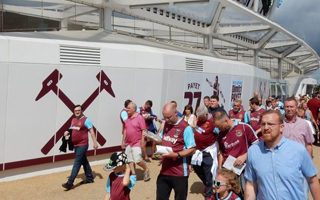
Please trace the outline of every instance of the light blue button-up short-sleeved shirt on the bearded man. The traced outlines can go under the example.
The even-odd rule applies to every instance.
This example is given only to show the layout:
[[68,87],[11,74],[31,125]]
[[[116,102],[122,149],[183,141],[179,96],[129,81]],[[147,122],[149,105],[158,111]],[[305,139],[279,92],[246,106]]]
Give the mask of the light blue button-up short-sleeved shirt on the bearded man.
[[257,200],[301,200],[304,179],[317,173],[306,147],[282,137],[273,150],[264,141],[249,148],[244,176],[257,183]]

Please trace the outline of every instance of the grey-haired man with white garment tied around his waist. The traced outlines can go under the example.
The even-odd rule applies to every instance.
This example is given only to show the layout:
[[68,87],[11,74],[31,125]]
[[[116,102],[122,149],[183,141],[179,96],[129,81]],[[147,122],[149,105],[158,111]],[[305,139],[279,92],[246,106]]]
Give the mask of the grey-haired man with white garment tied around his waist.
[[213,194],[212,180],[218,167],[218,144],[216,144],[218,135],[213,132],[212,115],[208,113],[206,107],[199,106],[196,114],[198,118],[194,131],[196,152],[192,156],[191,164],[205,186],[205,199],[210,199]]

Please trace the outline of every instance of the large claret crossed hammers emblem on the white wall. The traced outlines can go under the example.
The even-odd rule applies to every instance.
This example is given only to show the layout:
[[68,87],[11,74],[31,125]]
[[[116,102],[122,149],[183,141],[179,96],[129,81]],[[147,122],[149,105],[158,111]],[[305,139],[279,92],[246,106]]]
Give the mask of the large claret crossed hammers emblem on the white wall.
[[[65,95],[57,86],[59,80],[62,78],[62,74],[55,69],[43,82],[42,89],[36,97],[36,101],[41,99],[43,96],[48,94],[50,91],[54,92],[59,99],[69,108],[69,110],[73,113],[73,107],[75,104]],[[108,76],[101,70],[97,74],[97,79],[100,82],[99,87],[89,96],[89,98],[82,104],[83,111],[85,111],[90,104],[99,96],[102,90],[108,92],[111,96],[115,97],[115,94],[112,90],[111,84],[112,81],[108,78]],[[74,115],[61,126],[61,128],[51,137],[51,139],[42,147],[41,152],[45,155],[49,153],[49,151],[53,148],[55,143],[57,143],[60,138],[63,136],[63,133],[69,129],[71,125],[71,121]],[[93,126],[94,132],[97,133],[97,142],[103,146],[106,143],[106,139],[100,134],[100,132]],[[56,140],[55,140],[56,138]]]

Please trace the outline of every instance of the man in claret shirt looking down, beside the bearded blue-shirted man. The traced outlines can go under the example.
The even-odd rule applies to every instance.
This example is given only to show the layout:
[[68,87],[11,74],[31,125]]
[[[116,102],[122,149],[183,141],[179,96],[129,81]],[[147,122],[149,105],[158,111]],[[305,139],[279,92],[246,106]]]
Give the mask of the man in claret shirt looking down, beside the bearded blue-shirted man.
[[[229,119],[224,112],[220,111],[213,115],[213,124],[219,129],[219,169],[222,168],[228,156],[236,158],[234,166],[243,165],[247,159],[248,148],[259,142],[254,130],[245,123]],[[243,196],[245,185],[243,174],[240,176],[240,184],[242,193],[239,195]]]

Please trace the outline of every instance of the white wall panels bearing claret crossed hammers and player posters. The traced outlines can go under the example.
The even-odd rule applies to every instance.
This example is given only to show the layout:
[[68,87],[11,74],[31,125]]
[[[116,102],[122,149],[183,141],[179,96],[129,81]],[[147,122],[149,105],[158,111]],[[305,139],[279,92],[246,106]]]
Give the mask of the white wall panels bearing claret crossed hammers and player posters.
[[[232,74],[232,70],[229,75],[220,73],[225,69],[223,60],[210,61],[210,66],[216,63],[216,73],[214,67],[212,73],[186,72],[185,57],[154,56],[162,56],[162,69],[159,64],[139,67],[152,63],[138,61],[147,59],[141,56],[132,57],[135,63],[127,67],[0,63],[0,171],[72,159],[72,151],[63,153],[59,147],[77,104],[83,105],[94,125],[99,149],[93,150],[89,136],[88,155],[92,156],[120,150],[120,111],[127,99],[139,107],[152,100],[154,114],[162,117],[163,105],[172,100],[183,112],[187,104],[195,110],[203,105],[204,96],[218,95],[220,105],[229,110],[235,97],[242,97],[247,108],[254,90],[263,98],[268,95],[265,79]],[[228,67],[251,69],[236,63]]]

